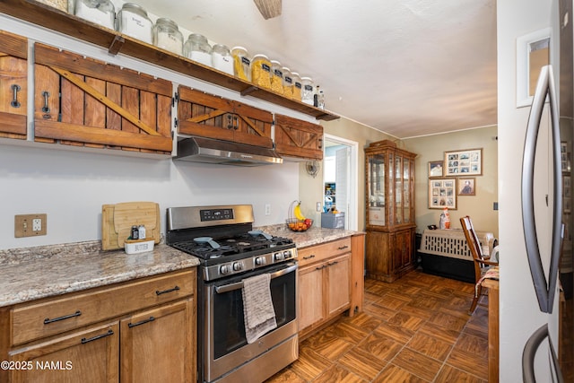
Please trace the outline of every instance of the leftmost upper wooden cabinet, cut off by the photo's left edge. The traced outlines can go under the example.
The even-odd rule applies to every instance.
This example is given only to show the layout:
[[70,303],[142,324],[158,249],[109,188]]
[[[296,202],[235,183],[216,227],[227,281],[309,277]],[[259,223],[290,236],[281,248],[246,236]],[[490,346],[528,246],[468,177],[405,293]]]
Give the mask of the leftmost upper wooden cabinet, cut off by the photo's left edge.
[[28,40],[0,30],[0,137],[26,139]]

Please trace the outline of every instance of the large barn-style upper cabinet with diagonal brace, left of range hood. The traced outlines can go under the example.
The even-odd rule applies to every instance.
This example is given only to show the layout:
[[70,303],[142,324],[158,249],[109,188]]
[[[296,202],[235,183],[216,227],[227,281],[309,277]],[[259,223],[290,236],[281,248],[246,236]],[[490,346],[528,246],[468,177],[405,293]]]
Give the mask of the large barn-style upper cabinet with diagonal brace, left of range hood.
[[36,43],[34,138],[171,152],[172,84]]

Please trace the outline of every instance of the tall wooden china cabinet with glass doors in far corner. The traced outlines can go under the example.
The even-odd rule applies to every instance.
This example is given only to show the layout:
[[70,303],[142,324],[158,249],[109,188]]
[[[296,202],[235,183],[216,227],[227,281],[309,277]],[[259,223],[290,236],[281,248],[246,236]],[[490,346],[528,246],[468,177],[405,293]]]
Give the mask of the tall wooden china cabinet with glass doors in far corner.
[[393,282],[414,268],[414,158],[384,140],[365,149],[367,277]]

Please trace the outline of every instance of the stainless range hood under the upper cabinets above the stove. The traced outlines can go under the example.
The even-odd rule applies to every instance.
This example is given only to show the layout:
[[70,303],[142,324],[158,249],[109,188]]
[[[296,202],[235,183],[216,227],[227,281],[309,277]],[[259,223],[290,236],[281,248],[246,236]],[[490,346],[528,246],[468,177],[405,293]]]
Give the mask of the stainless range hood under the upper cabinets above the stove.
[[175,160],[236,166],[283,163],[274,149],[196,136],[178,141]]

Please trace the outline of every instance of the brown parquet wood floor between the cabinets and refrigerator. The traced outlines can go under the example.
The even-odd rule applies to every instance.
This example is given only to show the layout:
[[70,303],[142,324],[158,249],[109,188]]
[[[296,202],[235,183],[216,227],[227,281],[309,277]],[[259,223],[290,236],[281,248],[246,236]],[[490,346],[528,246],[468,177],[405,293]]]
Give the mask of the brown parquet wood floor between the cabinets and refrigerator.
[[413,271],[365,281],[363,311],[300,344],[299,360],[266,383],[486,382],[488,296],[474,284]]

